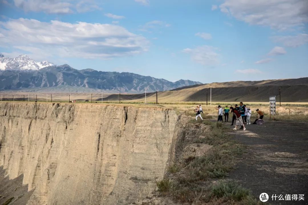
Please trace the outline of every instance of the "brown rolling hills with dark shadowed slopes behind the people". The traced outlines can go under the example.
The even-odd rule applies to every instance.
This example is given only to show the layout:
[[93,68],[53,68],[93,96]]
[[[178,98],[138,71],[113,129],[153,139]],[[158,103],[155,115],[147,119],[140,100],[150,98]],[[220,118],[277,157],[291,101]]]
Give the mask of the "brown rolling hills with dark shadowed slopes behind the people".
[[[269,101],[269,96],[279,99],[281,90],[282,102],[308,102],[308,77],[298,79],[279,79],[264,81],[233,81],[192,85],[170,91],[158,92],[159,102],[210,101],[212,86],[212,101]],[[105,100],[118,100],[118,95],[110,95]],[[103,100],[104,100],[103,99]],[[144,101],[144,94],[121,95],[123,100]],[[147,101],[156,101],[155,93],[147,94]]]

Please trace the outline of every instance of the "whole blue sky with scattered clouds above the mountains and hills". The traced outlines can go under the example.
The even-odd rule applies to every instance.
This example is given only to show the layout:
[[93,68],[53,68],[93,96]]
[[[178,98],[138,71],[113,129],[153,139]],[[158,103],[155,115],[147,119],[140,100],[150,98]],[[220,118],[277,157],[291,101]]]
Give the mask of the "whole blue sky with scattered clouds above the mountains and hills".
[[202,83],[308,77],[307,0],[0,0],[0,53]]

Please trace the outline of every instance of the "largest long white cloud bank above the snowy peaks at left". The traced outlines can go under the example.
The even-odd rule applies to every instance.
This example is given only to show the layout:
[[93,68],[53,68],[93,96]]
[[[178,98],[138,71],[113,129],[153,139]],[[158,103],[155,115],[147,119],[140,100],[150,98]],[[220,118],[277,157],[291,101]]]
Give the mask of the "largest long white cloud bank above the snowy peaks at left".
[[107,59],[148,49],[146,38],[110,24],[19,18],[0,21],[0,33],[4,36],[0,37],[0,45],[37,55],[43,52],[59,57]]

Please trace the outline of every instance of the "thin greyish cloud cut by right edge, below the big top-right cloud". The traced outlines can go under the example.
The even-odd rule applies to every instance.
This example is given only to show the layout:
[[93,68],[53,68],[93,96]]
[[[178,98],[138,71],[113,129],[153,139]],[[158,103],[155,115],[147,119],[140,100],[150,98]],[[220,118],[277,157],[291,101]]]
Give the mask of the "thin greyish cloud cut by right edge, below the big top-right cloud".
[[298,34],[297,36],[273,36],[275,42],[281,42],[288,47],[298,47],[308,43],[308,34]]

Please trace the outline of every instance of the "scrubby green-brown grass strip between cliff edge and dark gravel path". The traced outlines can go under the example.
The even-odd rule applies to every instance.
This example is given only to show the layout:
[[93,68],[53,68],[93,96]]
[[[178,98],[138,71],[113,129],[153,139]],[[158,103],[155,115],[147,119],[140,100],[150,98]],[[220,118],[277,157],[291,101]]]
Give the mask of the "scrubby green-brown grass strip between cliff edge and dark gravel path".
[[[227,128],[221,123],[203,120],[196,124],[193,119],[190,124],[196,129],[201,129],[201,125],[207,126],[209,130],[204,130],[200,137],[194,136],[187,144],[197,143],[197,147],[208,144],[211,148],[202,156],[188,156],[184,161],[177,160],[168,169],[165,178],[157,182],[161,196],[171,197],[177,203],[195,205],[231,201],[233,204],[257,204],[248,189],[236,182],[226,181],[238,157],[245,152],[245,146],[232,140],[226,134]],[[194,131],[188,130],[188,133],[192,134]]]

